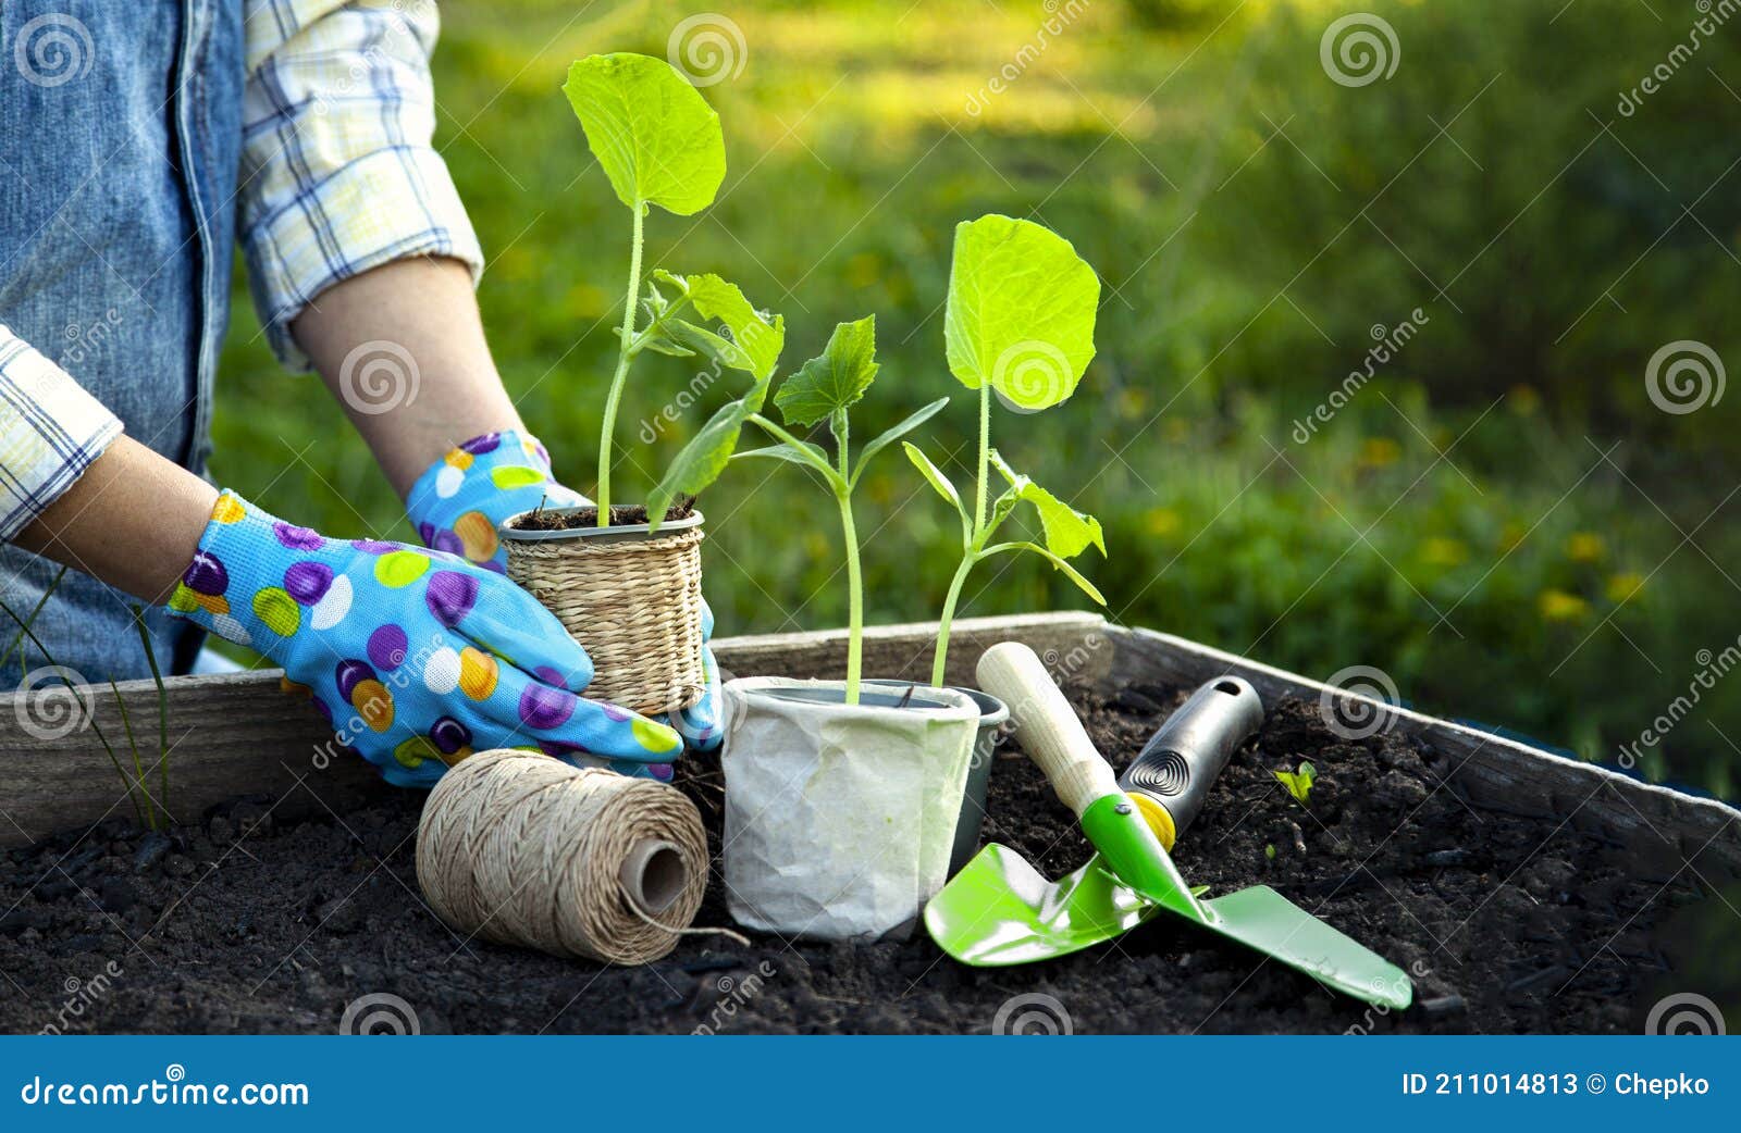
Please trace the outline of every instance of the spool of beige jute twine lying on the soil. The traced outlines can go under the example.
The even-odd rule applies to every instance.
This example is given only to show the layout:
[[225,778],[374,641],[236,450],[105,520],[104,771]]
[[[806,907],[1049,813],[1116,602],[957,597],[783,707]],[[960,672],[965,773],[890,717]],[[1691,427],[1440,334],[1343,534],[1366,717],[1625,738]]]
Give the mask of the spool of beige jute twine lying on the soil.
[[423,804],[418,884],[449,926],[564,957],[644,964],[707,889],[682,792],[521,750],[454,764]]

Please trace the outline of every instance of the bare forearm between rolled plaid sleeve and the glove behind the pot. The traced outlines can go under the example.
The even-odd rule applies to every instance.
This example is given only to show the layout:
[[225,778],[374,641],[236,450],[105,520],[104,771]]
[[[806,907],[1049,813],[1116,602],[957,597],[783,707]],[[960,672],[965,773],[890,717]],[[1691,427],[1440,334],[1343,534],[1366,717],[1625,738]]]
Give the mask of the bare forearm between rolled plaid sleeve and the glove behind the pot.
[[291,325],[404,496],[454,444],[521,416],[454,259],[400,259],[324,291]]

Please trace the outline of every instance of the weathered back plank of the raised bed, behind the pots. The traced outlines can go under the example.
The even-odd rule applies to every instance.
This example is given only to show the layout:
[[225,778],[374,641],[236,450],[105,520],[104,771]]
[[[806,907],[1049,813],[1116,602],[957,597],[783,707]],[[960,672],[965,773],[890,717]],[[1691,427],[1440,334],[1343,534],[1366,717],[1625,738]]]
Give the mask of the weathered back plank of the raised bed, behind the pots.
[[[1111,660],[1111,649],[1085,653],[1085,640],[1102,628],[1095,614],[965,618],[951,634],[949,674],[952,680],[971,682],[978,654],[1006,639],[1025,640],[1060,660]],[[926,679],[935,640],[935,623],[869,628],[865,674]],[[716,656],[721,668],[735,674],[830,677],[844,674],[846,632],[723,637]],[[239,795],[268,795],[280,801],[280,816],[296,816],[324,806],[343,809],[371,790],[390,790],[364,761],[333,745],[324,717],[305,700],[282,693],[280,677],[273,668],[164,682],[171,745],[167,809],[174,820],[198,821],[207,808]],[[118,691],[146,766],[146,790],[155,797],[160,794],[157,686],[131,680]],[[125,780],[96,731],[118,748],[131,773],[120,707],[108,687],[91,686],[87,694],[89,714],[80,710],[75,717],[66,715],[73,705],[61,684],[0,696],[0,846],[132,815]],[[68,719],[75,726],[66,727]],[[78,726],[78,721],[89,722]]]

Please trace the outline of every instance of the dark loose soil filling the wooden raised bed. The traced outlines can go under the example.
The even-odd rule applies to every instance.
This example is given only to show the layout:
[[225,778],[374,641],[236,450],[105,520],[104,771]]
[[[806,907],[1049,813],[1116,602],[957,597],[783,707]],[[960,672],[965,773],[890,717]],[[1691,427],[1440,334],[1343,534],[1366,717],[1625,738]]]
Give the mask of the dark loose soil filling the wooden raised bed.
[[[1182,698],[1072,696],[1118,766]],[[1271,774],[1302,759],[1318,768],[1309,811]],[[682,768],[717,853],[717,759]],[[287,804],[240,802],[167,837],[111,821],[0,856],[0,1030],[331,1032],[369,994],[404,999],[425,1032],[985,1032],[1022,994],[1055,999],[1076,1032],[1638,1030],[1675,990],[1661,926],[1701,907],[1680,860],[1475,811],[1450,771],[1393,736],[1342,741],[1313,705],[1281,703],[1177,855],[1213,893],[1271,884],[1414,971],[1419,1004],[1400,1015],[1165,921],[1003,969],[958,966],[923,931],[874,945],[757,935],[749,949],[689,936],[644,968],[467,943],[418,896],[421,795],[383,788],[343,815],[291,821]],[[994,768],[985,837],[1050,875],[1088,856],[1013,752]],[[698,924],[729,924],[717,877]]]

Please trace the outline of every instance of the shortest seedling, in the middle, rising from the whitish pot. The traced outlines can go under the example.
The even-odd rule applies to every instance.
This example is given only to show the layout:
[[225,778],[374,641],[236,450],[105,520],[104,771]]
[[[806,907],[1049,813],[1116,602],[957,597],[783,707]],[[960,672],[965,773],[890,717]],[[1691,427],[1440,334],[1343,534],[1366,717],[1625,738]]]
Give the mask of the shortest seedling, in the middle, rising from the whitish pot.
[[867,315],[858,322],[843,322],[829,336],[829,346],[804,362],[803,369],[780,385],[773,402],[780,416],[790,428],[811,428],[822,421],[829,423],[834,435],[834,458],[810,440],[803,440],[789,428],[775,425],[761,412],[750,411],[745,421],[766,432],[776,444],[764,449],[736,453],[733,459],[783,459],[810,468],[834,493],[834,501],[841,512],[841,533],[846,538],[846,590],[848,590],[848,639],[846,639],[846,703],[858,703],[860,663],[864,656],[864,578],[858,569],[858,527],[853,522],[853,489],[864,477],[865,466],[877,453],[900,440],[919,425],[933,418],[947,397],[940,397],[924,409],[919,409],[888,432],[864,446],[858,461],[851,458],[851,430],[848,409],[855,406],[870,383],[876,379],[876,317]]

